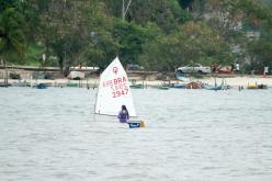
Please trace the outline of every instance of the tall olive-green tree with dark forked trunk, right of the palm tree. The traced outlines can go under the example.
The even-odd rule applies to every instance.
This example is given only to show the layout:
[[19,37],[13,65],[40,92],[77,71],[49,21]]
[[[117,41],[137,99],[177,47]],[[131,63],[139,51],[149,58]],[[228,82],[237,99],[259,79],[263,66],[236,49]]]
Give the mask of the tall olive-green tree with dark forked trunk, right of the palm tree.
[[83,54],[91,41],[91,33],[100,26],[102,8],[98,0],[47,0],[35,3],[34,8],[38,7],[41,11],[37,36],[44,43],[46,54],[58,57],[60,72],[67,76],[70,66],[86,61]]

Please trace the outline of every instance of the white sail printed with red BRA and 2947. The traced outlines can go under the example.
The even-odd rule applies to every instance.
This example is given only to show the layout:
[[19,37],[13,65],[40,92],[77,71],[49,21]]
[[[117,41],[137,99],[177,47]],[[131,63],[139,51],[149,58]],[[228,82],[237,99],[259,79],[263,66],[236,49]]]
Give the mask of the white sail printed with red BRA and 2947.
[[128,78],[116,57],[100,76],[95,114],[117,115],[122,105],[136,116]]

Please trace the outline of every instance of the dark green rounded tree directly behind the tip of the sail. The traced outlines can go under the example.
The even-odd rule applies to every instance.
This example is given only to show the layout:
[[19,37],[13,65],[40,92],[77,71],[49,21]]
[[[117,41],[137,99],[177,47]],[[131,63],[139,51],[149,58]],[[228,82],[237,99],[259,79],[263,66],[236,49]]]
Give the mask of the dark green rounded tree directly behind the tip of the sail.
[[115,56],[120,56],[124,66],[139,64],[143,45],[157,37],[158,26],[150,23],[143,27],[121,19],[110,22],[106,29],[93,32],[88,47],[89,63],[103,69]]

